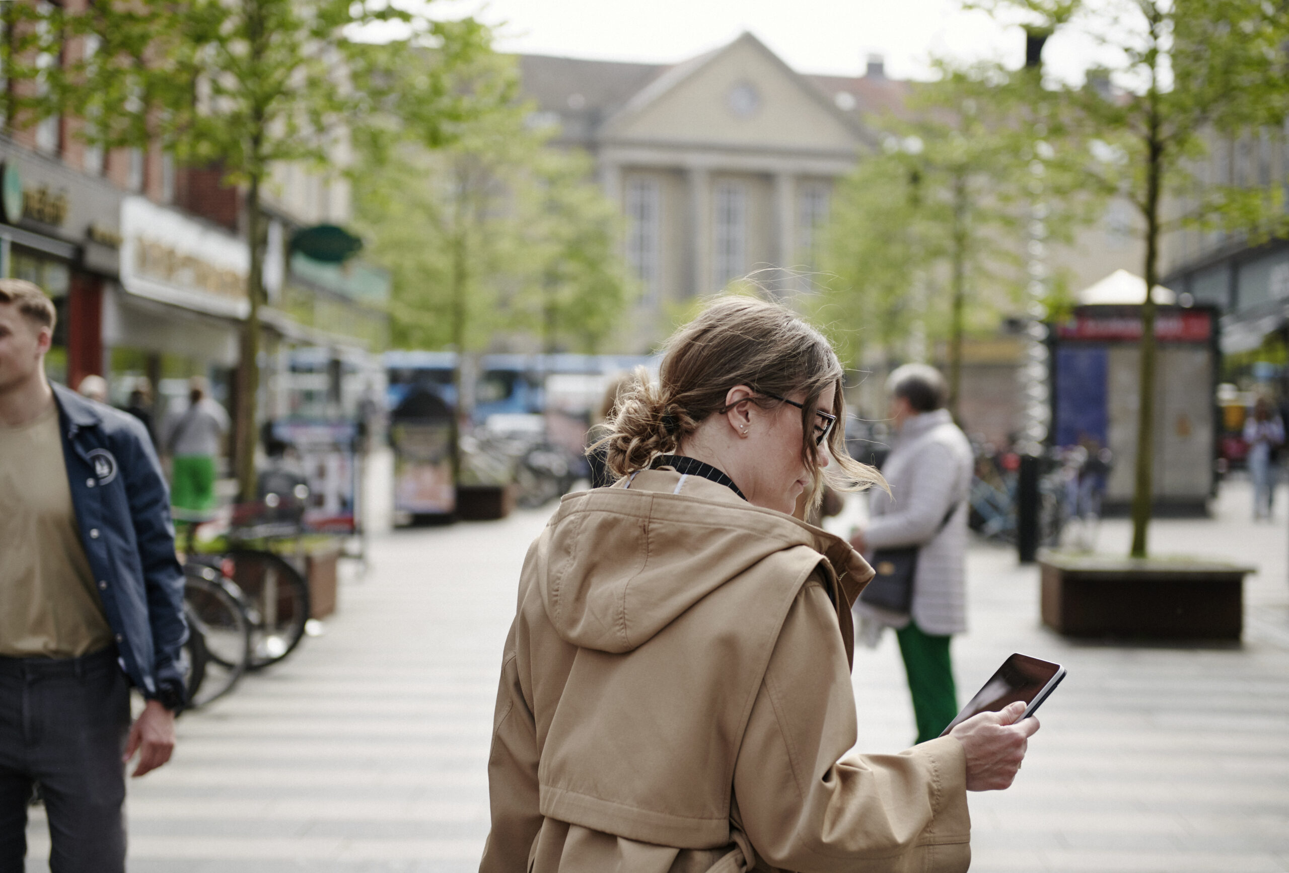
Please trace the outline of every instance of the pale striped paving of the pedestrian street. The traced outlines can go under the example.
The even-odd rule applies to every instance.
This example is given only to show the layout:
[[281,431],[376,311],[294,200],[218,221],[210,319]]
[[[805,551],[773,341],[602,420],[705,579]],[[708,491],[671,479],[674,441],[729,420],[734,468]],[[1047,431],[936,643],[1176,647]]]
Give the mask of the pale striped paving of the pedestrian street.
[[[1248,488],[1217,518],[1161,520],[1156,552],[1263,568],[1243,646],[1071,644],[1038,622],[1038,573],[971,552],[965,699],[1011,652],[1070,671],[1016,785],[972,794],[976,872],[1289,870],[1285,501],[1253,525]],[[162,770],[131,783],[133,873],[385,873],[477,868],[501,643],[528,542],[549,515],[400,530],[342,590],[325,636],[179,721]],[[1127,549],[1107,521],[1105,549]],[[895,640],[856,657],[860,747],[914,735]],[[28,872],[45,870],[39,811]]]

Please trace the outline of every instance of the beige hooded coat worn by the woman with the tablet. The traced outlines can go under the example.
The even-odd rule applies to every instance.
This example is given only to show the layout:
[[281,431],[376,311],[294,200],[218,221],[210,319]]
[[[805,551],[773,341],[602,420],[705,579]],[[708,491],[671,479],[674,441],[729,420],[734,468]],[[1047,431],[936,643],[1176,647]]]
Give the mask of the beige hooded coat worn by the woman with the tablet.
[[849,753],[871,576],[697,476],[566,497],[519,579],[481,872],[965,870],[962,744]]

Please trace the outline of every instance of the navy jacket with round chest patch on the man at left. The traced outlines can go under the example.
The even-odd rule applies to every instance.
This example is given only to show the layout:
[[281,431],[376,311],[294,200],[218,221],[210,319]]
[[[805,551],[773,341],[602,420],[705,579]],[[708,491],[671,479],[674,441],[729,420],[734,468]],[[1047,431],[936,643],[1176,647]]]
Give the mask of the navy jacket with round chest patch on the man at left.
[[53,389],[76,524],[121,667],[143,697],[178,708],[188,639],[183,568],[152,440],[134,416]]

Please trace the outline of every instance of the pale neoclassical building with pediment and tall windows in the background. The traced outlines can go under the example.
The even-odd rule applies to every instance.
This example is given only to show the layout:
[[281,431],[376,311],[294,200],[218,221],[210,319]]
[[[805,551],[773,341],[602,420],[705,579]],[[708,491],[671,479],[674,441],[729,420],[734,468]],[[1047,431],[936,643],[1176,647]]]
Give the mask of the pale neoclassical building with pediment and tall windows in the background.
[[804,76],[751,33],[675,66],[521,55],[523,89],[556,144],[596,160],[626,219],[647,341],[666,304],[779,268],[808,270],[834,182],[875,146],[861,116],[907,84]]

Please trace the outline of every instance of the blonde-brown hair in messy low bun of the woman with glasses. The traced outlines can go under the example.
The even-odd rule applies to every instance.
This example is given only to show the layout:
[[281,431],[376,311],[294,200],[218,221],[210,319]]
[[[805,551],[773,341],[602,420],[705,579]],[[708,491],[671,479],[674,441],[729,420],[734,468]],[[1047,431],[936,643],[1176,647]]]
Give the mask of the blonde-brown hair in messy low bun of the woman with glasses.
[[[633,384],[619,394],[608,435],[590,451],[606,447],[608,469],[619,476],[648,467],[659,455],[674,453],[681,442],[713,413],[724,412],[726,395],[735,385],[757,391],[751,402],[768,408],[804,391],[802,460],[815,474],[813,497],[822,482],[838,491],[886,488],[874,467],[851,458],[846,451],[846,398],[842,364],[824,335],[786,308],[746,296],[717,297],[692,322],[666,341],[659,381],[639,367]],[[833,465],[819,464],[815,411],[820,395],[835,386],[837,425],[829,431]]]

